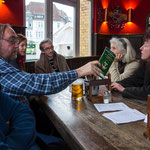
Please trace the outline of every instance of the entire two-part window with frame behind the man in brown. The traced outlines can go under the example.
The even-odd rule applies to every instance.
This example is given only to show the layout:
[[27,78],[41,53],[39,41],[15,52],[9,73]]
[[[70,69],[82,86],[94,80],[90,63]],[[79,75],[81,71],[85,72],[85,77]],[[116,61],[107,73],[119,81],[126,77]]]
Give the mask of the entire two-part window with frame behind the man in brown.
[[[45,38],[53,40],[55,50],[57,51],[59,48],[58,53],[69,57],[79,56],[79,7],[77,6],[79,6],[78,0],[25,0],[25,26],[27,27],[26,36],[29,45],[27,47],[27,60],[39,59],[41,53],[39,43]],[[55,11],[58,12],[58,20],[55,20]],[[70,35],[63,38],[70,41],[63,40],[60,43],[56,37],[59,35],[59,38],[62,38],[60,33],[65,29],[68,32],[72,30]]]

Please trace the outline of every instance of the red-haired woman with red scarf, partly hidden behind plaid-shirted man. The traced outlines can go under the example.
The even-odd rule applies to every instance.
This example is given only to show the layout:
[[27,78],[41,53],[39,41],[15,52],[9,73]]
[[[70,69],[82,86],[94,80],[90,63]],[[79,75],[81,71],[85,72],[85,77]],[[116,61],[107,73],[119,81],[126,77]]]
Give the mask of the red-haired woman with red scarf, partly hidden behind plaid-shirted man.
[[27,38],[23,34],[17,34],[19,46],[17,52],[14,55],[14,59],[9,63],[14,67],[25,71],[25,60],[26,60],[26,48],[27,48]]

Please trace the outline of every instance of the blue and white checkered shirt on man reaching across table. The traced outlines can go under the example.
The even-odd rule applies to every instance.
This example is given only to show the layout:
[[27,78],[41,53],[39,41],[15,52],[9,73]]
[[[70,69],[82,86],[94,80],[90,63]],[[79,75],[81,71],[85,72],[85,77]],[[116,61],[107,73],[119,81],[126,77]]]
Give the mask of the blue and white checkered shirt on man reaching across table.
[[2,91],[28,104],[30,95],[49,95],[60,92],[77,79],[75,70],[50,74],[30,74],[16,69],[0,57],[0,84]]

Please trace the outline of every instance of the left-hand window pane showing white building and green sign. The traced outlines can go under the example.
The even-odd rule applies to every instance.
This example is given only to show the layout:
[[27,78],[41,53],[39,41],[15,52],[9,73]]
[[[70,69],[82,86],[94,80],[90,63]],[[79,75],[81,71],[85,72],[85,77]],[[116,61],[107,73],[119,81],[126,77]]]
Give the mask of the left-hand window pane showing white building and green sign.
[[40,57],[39,43],[45,35],[45,0],[25,0],[26,36],[28,39],[26,59]]

